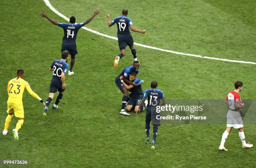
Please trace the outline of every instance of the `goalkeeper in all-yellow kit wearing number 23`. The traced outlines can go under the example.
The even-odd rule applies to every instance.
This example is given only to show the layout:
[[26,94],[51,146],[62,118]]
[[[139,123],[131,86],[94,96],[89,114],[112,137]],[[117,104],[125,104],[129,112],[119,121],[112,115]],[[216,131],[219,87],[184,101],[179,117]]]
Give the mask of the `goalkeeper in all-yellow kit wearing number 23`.
[[27,89],[28,93],[31,94],[34,98],[38,99],[41,103],[44,104],[44,101],[30,88],[28,82],[24,79],[24,71],[19,69],[17,71],[17,77],[11,79],[8,82],[7,91],[8,91],[8,101],[7,101],[7,113],[8,116],[5,119],[5,128],[3,131],[3,135],[8,133],[8,127],[10,125],[10,121],[13,118],[13,114],[18,118],[18,123],[16,124],[16,128],[13,129],[13,136],[15,140],[19,139],[18,131],[21,128],[24,122],[24,109],[22,103],[22,96],[25,89]]

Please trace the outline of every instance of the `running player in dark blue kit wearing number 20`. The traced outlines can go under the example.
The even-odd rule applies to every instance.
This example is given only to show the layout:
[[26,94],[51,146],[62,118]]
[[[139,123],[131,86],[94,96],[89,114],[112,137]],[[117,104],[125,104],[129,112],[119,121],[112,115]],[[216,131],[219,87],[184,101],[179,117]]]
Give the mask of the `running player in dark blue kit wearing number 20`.
[[52,106],[52,110],[58,109],[58,103],[61,101],[63,92],[66,88],[65,84],[65,74],[67,72],[67,69],[69,68],[69,65],[66,63],[69,59],[69,52],[64,51],[61,54],[61,59],[55,60],[51,63],[51,67],[49,68],[49,71],[53,71],[51,84],[50,84],[50,91],[49,91],[49,97],[46,100],[46,107],[44,108],[43,116],[46,116],[46,113],[48,111],[49,104],[51,103],[55,92],[58,90],[59,95],[56,98],[55,104]]

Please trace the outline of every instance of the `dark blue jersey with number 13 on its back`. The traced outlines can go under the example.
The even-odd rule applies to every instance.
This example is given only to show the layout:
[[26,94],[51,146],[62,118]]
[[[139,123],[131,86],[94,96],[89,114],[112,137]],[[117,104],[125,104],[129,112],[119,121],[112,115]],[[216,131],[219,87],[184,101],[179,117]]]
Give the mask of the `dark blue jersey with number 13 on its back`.
[[147,89],[143,98],[148,98],[148,107],[159,106],[160,100],[164,97],[164,92],[159,89]]

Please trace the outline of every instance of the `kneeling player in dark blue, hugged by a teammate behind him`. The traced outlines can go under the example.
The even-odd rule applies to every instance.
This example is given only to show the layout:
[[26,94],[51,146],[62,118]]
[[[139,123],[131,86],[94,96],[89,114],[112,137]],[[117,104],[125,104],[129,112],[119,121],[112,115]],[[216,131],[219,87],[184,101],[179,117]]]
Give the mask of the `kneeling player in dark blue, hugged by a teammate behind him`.
[[[144,81],[136,78],[136,72],[134,71],[131,72],[131,74],[129,75],[129,81],[133,82],[134,84],[138,84],[137,86],[133,86],[132,84],[126,84],[123,81],[123,76],[120,77],[120,80],[122,81],[123,86],[125,86],[125,88],[128,91],[131,91],[131,93],[129,94],[130,100],[127,103],[126,111],[131,112],[133,109],[137,111],[138,107],[141,104],[141,99],[143,96],[143,90],[141,89],[141,84]],[[148,102],[146,100],[143,106],[141,106],[141,111],[143,111],[144,106],[146,106],[147,103]]]

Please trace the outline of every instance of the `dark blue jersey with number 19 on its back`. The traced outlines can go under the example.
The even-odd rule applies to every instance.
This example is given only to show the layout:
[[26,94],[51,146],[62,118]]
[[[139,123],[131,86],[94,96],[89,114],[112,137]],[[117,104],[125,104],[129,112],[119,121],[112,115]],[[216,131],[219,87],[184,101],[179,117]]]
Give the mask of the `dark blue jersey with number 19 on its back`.
[[131,19],[125,16],[115,17],[112,21],[114,25],[116,23],[118,27],[118,34],[130,34],[129,26],[133,25]]

